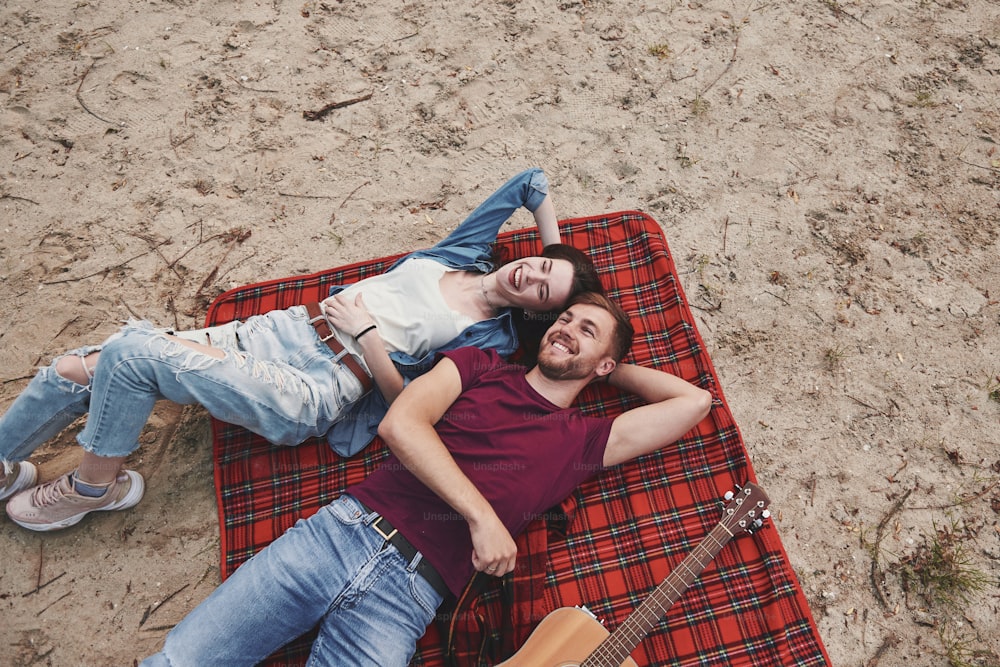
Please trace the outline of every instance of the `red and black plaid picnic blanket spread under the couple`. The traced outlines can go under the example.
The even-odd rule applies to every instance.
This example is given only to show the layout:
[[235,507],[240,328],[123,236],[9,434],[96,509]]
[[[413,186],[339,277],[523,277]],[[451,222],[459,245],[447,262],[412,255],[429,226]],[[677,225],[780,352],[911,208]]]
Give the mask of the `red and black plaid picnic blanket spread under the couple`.
[[[754,481],[659,225],[629,211],[564,221],[560,231],[566,243],[587,250],[610,296],[632,315],[636,338],[628,361],[695,382],[716,401],[711,415],[677,445],[607,471],[578,489],[570,499],[565,537],[550,533],[539,542],[545,531],[531,531],[535,547],[547,544],[544,574],[527,582],[522,578],[514,587],[521,597],[513,609],[515,627],[509,618],[491,622],[488,614],[476,620],[483,643],[502,645],[511,633],[520,641],[543,612],[562,606],[586,604],[613,629],[718,523],[721,496],[738,483]],[[522,256],[533,252],[534,240],[534,230],[519,230],[504,233],[499,243]],[[212,304],[207,323],[322,298],[330,285],[379,273],[395,259],[231,290]],[[607,416],[635,405],[607,386],[589,388],[579,404],[588,413]],[[223,576],[364,478],[386,455],[378,441],[341,459],[320,440],[275,447],[219,421],[213,420],[212,428]],[[528,546],[524,539],[520,544]],[[538,562],[535,555],[532,563]],[[531,599],[524,599],[526,589]],[[494,589],[480,597],[479,608],[495,609],[502,596]],[[413,664],[445,664],[442,636],[442,628],[432,626]],[[308,648],[306,637],[274,660],[301,663]],[[632,657],[640,665],[829,664],[773,526],[724,548]],[[464,659],[468,662],[459,657],[459,664],[474,664]]]

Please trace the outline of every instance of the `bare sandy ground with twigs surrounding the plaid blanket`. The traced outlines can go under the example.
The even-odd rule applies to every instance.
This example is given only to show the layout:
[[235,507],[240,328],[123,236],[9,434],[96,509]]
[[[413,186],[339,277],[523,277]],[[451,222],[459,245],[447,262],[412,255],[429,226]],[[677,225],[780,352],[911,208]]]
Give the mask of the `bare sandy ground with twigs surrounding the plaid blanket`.
[[[998,88],[989,0],[6,0],[0,401],[129,317],[431,245],[537,165],[560,217],[662,224],[833,663],[998,665]],[[156,650],[219,581],[209,454],[163,404],[138,507],[4,517],[0,663]],[[929,599],[934,544],[993,583]]]

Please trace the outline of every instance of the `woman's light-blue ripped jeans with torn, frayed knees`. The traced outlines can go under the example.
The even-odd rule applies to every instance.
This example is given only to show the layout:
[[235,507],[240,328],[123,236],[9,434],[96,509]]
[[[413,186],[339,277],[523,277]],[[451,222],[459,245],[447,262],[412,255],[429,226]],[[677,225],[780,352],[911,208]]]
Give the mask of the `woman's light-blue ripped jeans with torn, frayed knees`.
[[138,449],[159,399],[197,403],[270,442],[298,445],[324,435],[363,392],[320,340],[303,306],[177,334],[210,339],[225,351],[222,359],[166,333],[133,321],[101,345],[68,352],[81,362],[101,353],[87,386],[59,375],[59,359],[41,368],[0,418],[0,460],[23,461],[88,412],[80,445],[98,456],[126,456]]

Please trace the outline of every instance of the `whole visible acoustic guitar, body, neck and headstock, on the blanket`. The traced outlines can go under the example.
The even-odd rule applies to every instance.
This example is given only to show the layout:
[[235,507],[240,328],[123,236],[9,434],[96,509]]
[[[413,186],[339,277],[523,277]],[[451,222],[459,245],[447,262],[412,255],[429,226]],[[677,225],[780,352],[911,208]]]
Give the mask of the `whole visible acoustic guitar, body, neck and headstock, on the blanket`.
[[545,616],[517,653],[497,667],[637,667],[629,655],[722,548],[753,533],[770,516],[767,494],[753,483],[726,494],[722,520],[614,632],[586,607],[562,607]]

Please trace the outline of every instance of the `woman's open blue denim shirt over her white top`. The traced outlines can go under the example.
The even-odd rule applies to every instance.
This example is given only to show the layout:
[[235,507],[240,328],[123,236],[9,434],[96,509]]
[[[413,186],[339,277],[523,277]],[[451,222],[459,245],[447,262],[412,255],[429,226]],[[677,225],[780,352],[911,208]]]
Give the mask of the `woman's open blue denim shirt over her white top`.
[[[489,273],[493,270],[493,242],[500,227],[522,206],[534,212],[541,206],[548,191],[548,179],[541,169],[521,172],[477,206],[445,239],[432,248],[410,253],[393,264],[389,271],[414,257],[423,257],[453,269]],[[334,287],[330,294],[336,294],[344,287]],[[505,310],[494,318],[469,326],[446,345],[431,350],[422,358],[400,352],[393,352],[389,356],[402,374],[404,382],[409,383],[430,370],[438,352],[459,347],[478,347],[494,349],[501,356],[507,357],[517,349],[517,345],[513,318],[510,311]],[[327,441],[341,456],[356,454],[375,437],[379,422],[388,409],[389,405],[379,391],[369,392],[327,432]]]

